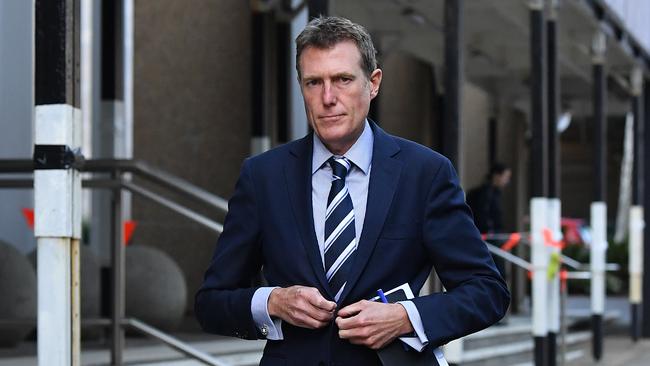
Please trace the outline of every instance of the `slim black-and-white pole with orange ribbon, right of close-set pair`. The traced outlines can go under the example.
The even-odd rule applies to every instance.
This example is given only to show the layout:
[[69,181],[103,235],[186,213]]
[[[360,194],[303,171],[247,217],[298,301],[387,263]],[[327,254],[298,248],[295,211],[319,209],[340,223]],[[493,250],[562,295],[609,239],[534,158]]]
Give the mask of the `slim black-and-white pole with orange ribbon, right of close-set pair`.
[[[558,0],[548,2],[547,35],[547,81],[548,81],[548,193],[549,193],[549,229],[554,240],[560,241],[561,202],[560,202],[560,159],[557,133],[557,116],[560,96],[559,75],[557,67],[557,8]],[[561,249],[549,247],[549,254],[559,261]],[[548,364],[557,364],[557,334],[560,331],[560,268],[549,279],[548,293]]]

